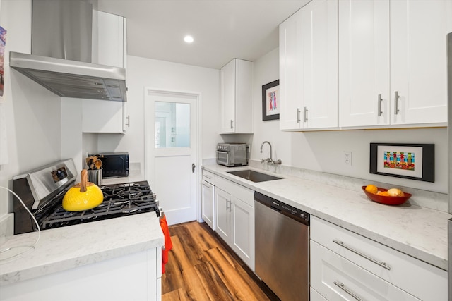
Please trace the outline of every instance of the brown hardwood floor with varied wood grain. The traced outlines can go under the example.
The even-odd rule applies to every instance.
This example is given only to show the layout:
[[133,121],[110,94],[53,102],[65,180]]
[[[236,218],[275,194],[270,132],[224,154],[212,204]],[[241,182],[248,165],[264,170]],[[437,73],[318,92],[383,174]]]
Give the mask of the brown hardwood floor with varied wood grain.
[[173,248],[162,275],[162,301],[278,300],[206,223],[169,227]]

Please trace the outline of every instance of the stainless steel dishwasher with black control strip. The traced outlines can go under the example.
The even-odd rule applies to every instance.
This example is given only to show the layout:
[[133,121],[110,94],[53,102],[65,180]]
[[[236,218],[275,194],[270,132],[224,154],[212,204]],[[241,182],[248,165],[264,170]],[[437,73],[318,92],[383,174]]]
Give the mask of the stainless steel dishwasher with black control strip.
[[309,214],[254,192],[256,274],[285,300],[309,300]]

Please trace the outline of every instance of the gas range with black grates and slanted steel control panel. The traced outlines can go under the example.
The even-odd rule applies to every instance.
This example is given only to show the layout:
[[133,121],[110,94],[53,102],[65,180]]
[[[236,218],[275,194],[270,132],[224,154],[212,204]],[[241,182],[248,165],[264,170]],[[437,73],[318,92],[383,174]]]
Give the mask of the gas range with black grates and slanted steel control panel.
[[[104,200],[99,206],[85,211],[66,211],[61,202],[73,186],[75,175],[73,160],[68,159],[13,178],[13,191],[30,209],[41,230],[152,211],[160,216],[158,202],[147,181],[101,185]],[[30,214],[16,199],[13,213],[14,234],[37,231]]]

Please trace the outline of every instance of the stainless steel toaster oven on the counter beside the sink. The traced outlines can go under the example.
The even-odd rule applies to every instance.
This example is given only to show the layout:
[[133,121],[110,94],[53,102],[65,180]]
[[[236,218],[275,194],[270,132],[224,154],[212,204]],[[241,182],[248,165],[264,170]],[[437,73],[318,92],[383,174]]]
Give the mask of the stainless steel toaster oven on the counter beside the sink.
[[246,143],[218,143],[217,164],[224,166],[248,165],[248,146]]

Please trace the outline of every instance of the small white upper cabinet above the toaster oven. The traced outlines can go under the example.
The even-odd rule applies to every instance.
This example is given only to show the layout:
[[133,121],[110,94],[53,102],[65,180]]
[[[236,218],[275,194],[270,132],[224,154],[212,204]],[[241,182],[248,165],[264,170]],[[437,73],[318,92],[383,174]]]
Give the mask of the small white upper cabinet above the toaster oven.
[[220,70],[221,133],[253,133],[253,62],[233,59]]

